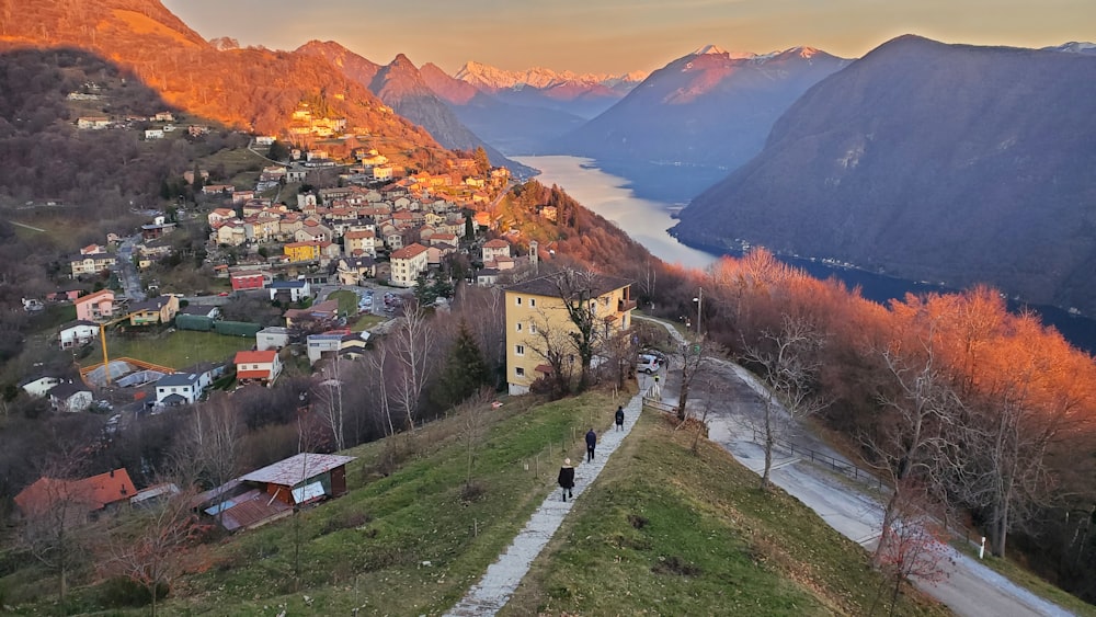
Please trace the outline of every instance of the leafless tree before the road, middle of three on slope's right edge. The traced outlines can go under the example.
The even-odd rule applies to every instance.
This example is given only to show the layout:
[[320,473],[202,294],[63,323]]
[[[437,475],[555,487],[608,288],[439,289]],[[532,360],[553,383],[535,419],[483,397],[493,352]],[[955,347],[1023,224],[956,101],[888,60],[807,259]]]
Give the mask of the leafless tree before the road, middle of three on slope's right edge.
[[773,449],[779,436],[799,420],[825,408],[815,393],[815,379],[821,363],[815,352],[825,338],[807,318],[785,313],[779,331],[766,330],[757,345],[746,346],[743,358],[761,369],[766,386],[761,422],[765,470],[762,490],[768,490],[773,470]]

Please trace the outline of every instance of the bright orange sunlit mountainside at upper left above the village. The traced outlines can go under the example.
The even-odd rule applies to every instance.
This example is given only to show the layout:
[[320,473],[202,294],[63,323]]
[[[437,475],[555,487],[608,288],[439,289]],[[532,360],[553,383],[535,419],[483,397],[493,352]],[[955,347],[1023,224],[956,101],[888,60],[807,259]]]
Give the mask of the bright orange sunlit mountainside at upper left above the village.
[[365,87],[315,56],[204,41],[157,0],[44,0],[34,11],[3,2],[0,49],[77,48],[122,67],[176,110],[258,133],[288,134],[293,112],[344,117],[386,150],[444,151],[424,130],[395,117]]

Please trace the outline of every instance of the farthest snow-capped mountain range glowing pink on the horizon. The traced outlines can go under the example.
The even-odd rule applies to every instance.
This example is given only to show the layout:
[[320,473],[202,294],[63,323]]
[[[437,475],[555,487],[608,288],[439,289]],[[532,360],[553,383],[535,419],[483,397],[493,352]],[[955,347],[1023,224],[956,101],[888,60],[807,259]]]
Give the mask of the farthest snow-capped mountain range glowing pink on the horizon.
[[545,107],[591,118],[607,110],[642,81],[642,72],[574,73],[535,67],[507,71],[469,61],[455,76],[504,103]]

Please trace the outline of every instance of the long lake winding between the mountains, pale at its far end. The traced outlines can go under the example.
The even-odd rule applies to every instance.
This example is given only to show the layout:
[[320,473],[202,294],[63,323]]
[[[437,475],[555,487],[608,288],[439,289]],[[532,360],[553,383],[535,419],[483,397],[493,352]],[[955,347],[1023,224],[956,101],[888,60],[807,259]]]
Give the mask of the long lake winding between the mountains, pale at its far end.
[[[628,180],[605,173],[596,161],[581,157],[511,157],[522,164],[540,170],[537,181],[546,186],[559,185],[580,204],[615,222],[633,240],[666,263],[686,267],[705,268],[719,254],[686,247],[667,231],[676,224],[670,215],[674,206],[663,202],[641,199],[628,187]],[[680,207],[680,206],[678,206]],[[733,253],[728,253],[733,254]],[[804,259],[780,258],[817,278],[831,276],[848,287],[860,287],[861,295],[872,301],[886,304],[906,293],[955,292],[945,287],[915,281],[883,276],[861,270],[835,267]],[[1021,306],[1009,301],[1012,310]],[[1044,323],[1053,325],[1073,345],[1088,353],[1096,351],[1096,321],[1071,316],[1057,307],[1031,306]]]

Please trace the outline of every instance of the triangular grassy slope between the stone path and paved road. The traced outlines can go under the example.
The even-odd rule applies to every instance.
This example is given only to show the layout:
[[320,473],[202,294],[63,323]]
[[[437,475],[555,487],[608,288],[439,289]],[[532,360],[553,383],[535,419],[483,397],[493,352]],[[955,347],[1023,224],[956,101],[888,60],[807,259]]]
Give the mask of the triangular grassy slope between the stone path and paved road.
[[[690,439],[644,414],[502,614],[868,613],[880,579],[859,546]],[[905,597],[899,613],[946,610]]]

